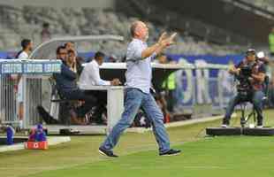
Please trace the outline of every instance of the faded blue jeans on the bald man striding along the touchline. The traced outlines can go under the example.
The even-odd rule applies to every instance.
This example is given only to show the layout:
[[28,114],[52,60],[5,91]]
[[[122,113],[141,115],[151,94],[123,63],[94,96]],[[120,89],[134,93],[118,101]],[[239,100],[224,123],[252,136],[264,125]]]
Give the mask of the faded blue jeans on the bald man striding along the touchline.
[[112,150],[117,144],[120,135],[130,127],[140,107],[146,112],[151,121],[153,132],[160,152],[170,150],[170,140],[164,127],[164,116],[154,97],[151,94],[143,93],[140,89],[126,89],[126,103],[122,118],[118,121],[107,136],[101,148]]

